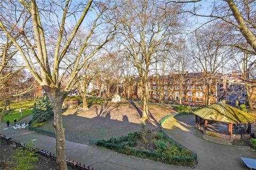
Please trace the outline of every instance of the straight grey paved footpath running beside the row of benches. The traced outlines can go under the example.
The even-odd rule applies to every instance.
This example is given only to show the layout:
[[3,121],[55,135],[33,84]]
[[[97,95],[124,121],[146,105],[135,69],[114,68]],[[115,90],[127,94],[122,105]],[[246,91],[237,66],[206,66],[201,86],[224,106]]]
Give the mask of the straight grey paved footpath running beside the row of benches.
[[[55,153],[55,138],[53,137],[31,132],[27,129],[4,129],[6,129],[6,123],[1,124],[2,134],[5,134],[7,137],[11,137],[14,140],[21,141],[22,143],[28,143],[30,140],[34,140],[35,146],[39,147],[40,149],[46,149]],[[94,166],[95,170],[99,168],[101,168],[101,170],[191,169],[190,167],[167,165],[161,162],[154,162],[147,159],[118,154],[111,150],[71,141],[66,141],[66,156],[67,158],[78,160],[78,162],[82,162],[86,165]]]

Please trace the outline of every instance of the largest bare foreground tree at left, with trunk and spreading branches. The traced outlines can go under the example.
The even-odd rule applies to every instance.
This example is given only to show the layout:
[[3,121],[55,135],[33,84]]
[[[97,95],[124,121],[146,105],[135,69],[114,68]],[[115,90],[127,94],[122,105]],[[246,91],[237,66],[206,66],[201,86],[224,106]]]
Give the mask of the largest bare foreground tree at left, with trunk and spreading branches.
[[[4,3],[10,3],[10,1],[4,1]],[[67,0],[59,4],[57,2],[13,1],[12,4],[19,4],[19,6],[11,5],[10,8],[1,9],[0,28],[16,46],[27,69],[50,98],[54,111],[57,167],[61,170],[67,169],[61,106],[69,90],[74,86],[74,80],[85,62],[114,38],[116,25],[111,24],[111,16],[107,16],[113,9],[111,6],[113,4],[93,3],[92,0],[86,3]],[[72,56],[69,49],[73,47],[73,40],[81,25],[86,24],[83,21],[90,10],[94,11],[95,18],[91,19],[88,30],[85,30],[87,34],[78,53]],[[10,11],[12,15],[6,16],[6,13]],[[17,14],[22,14],[22,20],[13,25],[11,21],[15,20]],[[25,23],[26,20],[28,21]],[[67,20],[73,20],[74,24],[70,25]],[[23,24],[25,27],[20,30]],[[15,39],[15,32],[21,32],[22,36]],[[99,32],[101,40],[92,40],[91,38],[95,38],[94,35]],[[24,49],[23,46],[27,48]],[[85,51],[87,55],[83,58],[82,53]],[[73,71],[67,76],[69,67],[72,67]],[[66,78],[65,86],[62,85],[63,78]]]

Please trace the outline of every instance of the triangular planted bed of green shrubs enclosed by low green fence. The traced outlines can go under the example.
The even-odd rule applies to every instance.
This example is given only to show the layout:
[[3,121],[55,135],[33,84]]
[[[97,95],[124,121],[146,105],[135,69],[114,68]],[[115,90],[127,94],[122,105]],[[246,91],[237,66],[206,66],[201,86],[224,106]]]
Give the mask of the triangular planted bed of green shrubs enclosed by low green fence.
[[[93,141],[91,140],[90,143]],[[97,146],[116,152],[147,158],[166,164],[195,166],[196,154],[169,140],[160,130],[148,130],[143,126],[139,132],[109,140],[94,141]]]

